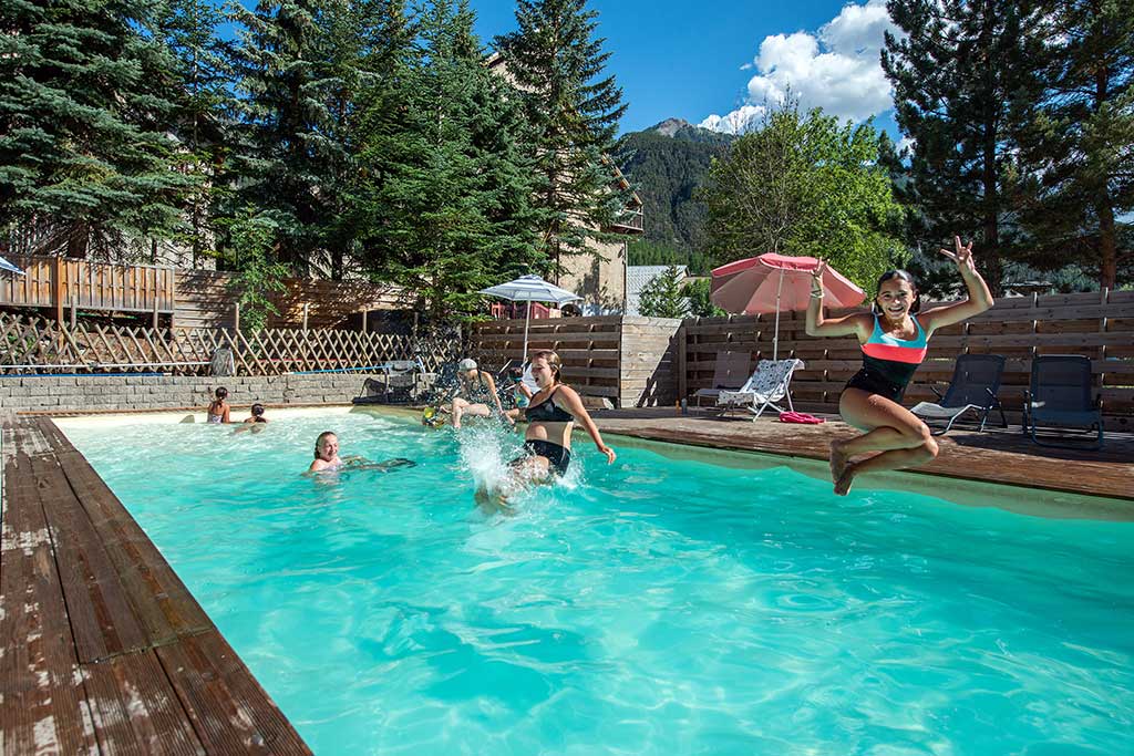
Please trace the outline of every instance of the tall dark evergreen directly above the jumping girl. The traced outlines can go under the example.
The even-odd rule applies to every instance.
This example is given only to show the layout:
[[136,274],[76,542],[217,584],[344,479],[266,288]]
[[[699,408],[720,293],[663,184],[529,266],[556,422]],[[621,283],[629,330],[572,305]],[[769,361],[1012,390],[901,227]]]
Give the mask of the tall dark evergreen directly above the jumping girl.
[[1006,185],[1021,113],[1039,102],[1038,14],[1016,0],[889,0],[905,35],[887,33],[882,68],[896,118],[914,138],[908,196],[936,248],[954,233],[975,238],[993,294],[1017,254],[1018,220]]

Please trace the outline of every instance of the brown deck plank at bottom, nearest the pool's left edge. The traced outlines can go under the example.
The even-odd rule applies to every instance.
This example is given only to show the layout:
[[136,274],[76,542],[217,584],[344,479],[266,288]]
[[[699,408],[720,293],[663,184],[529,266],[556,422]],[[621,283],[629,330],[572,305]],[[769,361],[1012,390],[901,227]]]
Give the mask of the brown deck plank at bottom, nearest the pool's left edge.
[[311,754],[219,632],[181,638],[156,651],[210,753]]

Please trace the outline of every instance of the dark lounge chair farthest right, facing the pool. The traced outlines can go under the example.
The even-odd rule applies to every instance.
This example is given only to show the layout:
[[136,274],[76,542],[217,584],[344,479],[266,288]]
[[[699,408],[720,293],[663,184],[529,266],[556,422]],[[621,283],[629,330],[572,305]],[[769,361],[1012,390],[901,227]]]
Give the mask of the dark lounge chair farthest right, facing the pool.
[[[1043,355],[1032,360],[1032,384],[1024,393],[1024,434],[1041,447],[1102,448],[1102,402],[1091,397],[1091,360],[1080,355]],[[1042,427],[1056,441],[1036,435]],[[1094,436],[1090,447],[1059,441]]]

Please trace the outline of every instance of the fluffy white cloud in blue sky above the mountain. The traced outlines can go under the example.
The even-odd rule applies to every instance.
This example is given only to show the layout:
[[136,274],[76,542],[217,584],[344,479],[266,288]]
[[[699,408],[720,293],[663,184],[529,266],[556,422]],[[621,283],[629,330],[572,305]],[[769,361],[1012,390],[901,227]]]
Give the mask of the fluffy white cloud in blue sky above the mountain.
[[[894,107],[879,52],[886,31],[897,27],[885,0],[847,5],[815,34],[795,32],[764,37],[754,59],[759,71],[748,80],[744,104],[726,116],[712,114],[701,126],[738,134],[759,121],[764,103],[778,105],[790,91],[806,110],[822,108],[839,120],[862,121]],[[738,129],[738,130],[734,130]]]

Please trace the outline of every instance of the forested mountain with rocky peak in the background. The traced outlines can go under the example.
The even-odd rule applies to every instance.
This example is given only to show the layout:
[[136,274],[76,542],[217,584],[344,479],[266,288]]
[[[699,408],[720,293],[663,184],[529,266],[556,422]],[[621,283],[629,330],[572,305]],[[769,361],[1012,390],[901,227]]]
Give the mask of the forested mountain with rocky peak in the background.
[[[712,159],[726,154],[735,138],[670,118],[619,139],[616,159],[642,198],[643,241],[648,246],[670,247],[686,255],[704,252],[706,211],[693,194]],[[688,258],[678,262],[691,263]]]

